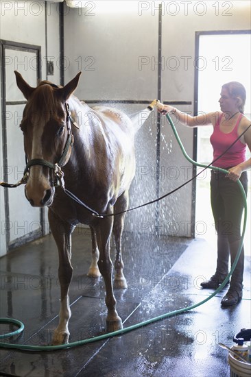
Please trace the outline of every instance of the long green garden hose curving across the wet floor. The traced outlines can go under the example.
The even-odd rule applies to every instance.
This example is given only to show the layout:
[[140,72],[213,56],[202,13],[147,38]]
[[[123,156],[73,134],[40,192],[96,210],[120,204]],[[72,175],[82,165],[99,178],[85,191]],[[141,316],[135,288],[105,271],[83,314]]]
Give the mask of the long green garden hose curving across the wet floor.
[[[180,137],[178,136],[178,132],[176,130],[176,127],[175,127],[175,125],[174,125],[173,121],[171,120],[171,117],[169,116],[168,113],[166,114],[166,117],[167,117],[167,120],[169,121],[169,123],[171,125],[171,128],[174,132],[174,135],[176,136],[178,144],[180,145],[180,149],[182,150],[182,154],[184,155],[185,158],[187,158],[187,160],[189,160],[189,162],[191,162],[193,165],[198,166],[198,167],[209,168],[209,169],[212,169],[212,170],[221,171],[222,173],[226,173],[226,174],[228,173],[228,171],[226,171],[225,169],[220,169],[218,167],[203,165],[203,164],[200,164],[200,163],[192,160],[187,155],[187,152],[185,151],[184,146],[182,145]],[[222,284],[220,284],[220,286],[211,295],[206,297],[204,300],[198,302],[198,304],[193,304],[191,306],[187,306],[186,308],[181,308],[181,309],[178,309],[176,311],[171,311],[171,312],[165,313],[163,315],[158,315],[157,317],[147,319],[146,321],[139,322],[138,324],[129,326],[127,328],[122,328],[121,330],[117,330],[117,331],[114,331],[114,332],[108,332],[104,335],[99,335],[97,337],[83,339],[83,340],[75,341],[75,342],[72,342],[72,343],[61,344],[61,345],[43,345],[43,346],[40,346],[40,345],[26,345],[26,344],[14,344],[14,343],[0,342],[0,347],[1,348],[14,348],[14,349],[17,349],[17,350],[28,350],[28,351],[33,350],[33,351],[39,351],[39,352],[41,352],[41,351],[64,350],[66,348],[73,348],[73,347],[76,347],[77,345],[84,345],[84,344],[87,344],[87,343],[93,343],[95,341],[101,341],[101,340],[104,340],[104,339],[108,339],[110,337],[115,337],[116,335],[125,334],[126,332],[130,332],[130,331],[135,330],[137,328],[147,326],[148,324],[152,324],[156,321],[160,321],[162,319],[173,317],[174,315],[178,315],[178,314],[181,314],[181,313],[185,313],[187,311],[191,311],[192,309],[198,308],[198,306],[205,304],[208,300],[211,300],[212,297],[217,295],[217,293],[219,293],[219,291],[221,291],[225,287],[230,276],[232,275],[233,271],[235,270],[235,267],[236,267],[237,262],[239,260],[239,256],[241,254],[241,249],[242,249],[242,245],[243,245],[243,238],[244,238],[244,234],[245,234],[245,230],[246,230],[246,222],[247,222],[247,201],[246,201],[246,193],[243,189],[241,182],[238,180],[237,183],[239,184],[239,187],[241,189],[241,193],[242,193],[243,199],[244,199],[243,200],[243,202],[244,202],[243,229],[242,229],[241,239],[240,239],[240,242],[239,242],[239,249],[238,249],[235,261],[234,261],[234,263],[232,263],[232,267],[230,269],[230,272],[228,273],[228,276],[226,276],[226,278],[224,279]],[[15,326],[19,326],[19,328],[17,330],[13,331],[13,332],[9,332],[8,334],[0,335],[0,339],[5,339],[7,337],[14,337],[14,335],[19,335],[19,334],[21,334],[21,332],[23,331],[23,329],[25,327],[21,321],[18,321],[17,319],[10,319],[10,318],[0,318],[0,324],[14,324]]]

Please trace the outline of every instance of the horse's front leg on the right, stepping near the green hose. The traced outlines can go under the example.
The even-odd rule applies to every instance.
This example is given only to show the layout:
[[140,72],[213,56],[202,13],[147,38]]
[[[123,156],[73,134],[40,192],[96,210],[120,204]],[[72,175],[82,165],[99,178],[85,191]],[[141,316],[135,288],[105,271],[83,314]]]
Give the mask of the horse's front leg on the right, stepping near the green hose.
[[116,299],[112,288],[112,261],[110,260],[110,235],[112,232],[112,217],[106,217],[98,221],[96,229],[97,245],[99,247],[99,271],[106,285],[106,330],[108,332],[123,328],[121,318],[116,311]]

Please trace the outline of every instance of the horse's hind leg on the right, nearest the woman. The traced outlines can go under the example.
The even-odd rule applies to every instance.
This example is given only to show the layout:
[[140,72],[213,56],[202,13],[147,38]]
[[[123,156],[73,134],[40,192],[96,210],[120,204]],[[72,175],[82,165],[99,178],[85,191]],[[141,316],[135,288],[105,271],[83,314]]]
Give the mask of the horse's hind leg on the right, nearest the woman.
[[[115,204],[115,213],[122,212],[128,208],[128,191],[125,191],[118,199]],[[115,257],[115,280],[114,287],[118,289],[126,289],[128,284],[125,280],[123,274],[123,260],[121,252],[121,239],[123,232],[123,223],[124,223],[125,213],[117,215],[114,218],[112,232],[115,236],[115,245],[116,245],[116,257]]]

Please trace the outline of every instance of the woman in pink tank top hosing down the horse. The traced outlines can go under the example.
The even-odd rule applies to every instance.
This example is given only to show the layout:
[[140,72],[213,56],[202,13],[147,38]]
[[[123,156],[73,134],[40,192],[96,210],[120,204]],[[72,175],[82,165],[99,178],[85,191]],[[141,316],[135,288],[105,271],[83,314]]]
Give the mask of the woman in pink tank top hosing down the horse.
[[[219,104],[220,112],[191,117],[178,109],[160,105],[162,114],[174,114],[180,123],[189,127],[213,125],[210,141],[213,146],[213,165],[228,170],[228,174],[211,171],[211,206],[217,230],[217,267],[215,274],[206,282],[204,289],[217,289],[228,275],[228,260],[231,265],[239,249],[241,217],[243,213],[243,196],[237,184],[240,180],[247,194],[247,170],[251,167],[251,158],[246,160],[246,146],[251,150],[250,120],[243,115],[246,102],[246,90],[239,82],[229,82],[222,86]],[[243,133],[243,136],[232,147],[230,145]],[[225,154],[224,151],[226,151]],[[223,156],[221,156],[223,154]],[[222,299],[222,306],[237,304],[242,298],[244,250],[235,271],[232,273],[230,288]]]

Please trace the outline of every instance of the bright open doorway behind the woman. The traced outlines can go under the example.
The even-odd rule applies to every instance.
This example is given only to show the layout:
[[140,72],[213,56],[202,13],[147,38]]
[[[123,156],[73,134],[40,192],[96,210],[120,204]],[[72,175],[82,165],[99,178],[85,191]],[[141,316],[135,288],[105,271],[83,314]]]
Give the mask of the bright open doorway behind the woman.
[[[196,33],[195,112],[218,110],[222,84],[238,81],[246,88],[245,114],[251,119],[250,45],[251,34],[248,30]],[[197,160],[208,164],[213,160],[213,149],[209,142],[213,127],[199,127],[197,132]],[[250,151],[247,153],[247,158],[249,157]],[[246,254],[250,255],[250,171],[248,171],[248,180],[248,223],[244,247]],[[198,178],[195,224],[200,224],[197,232],[195,229],[195,236],[202,236],[215,245],[216,233],[210,204],[210,171],[204,172]]]

